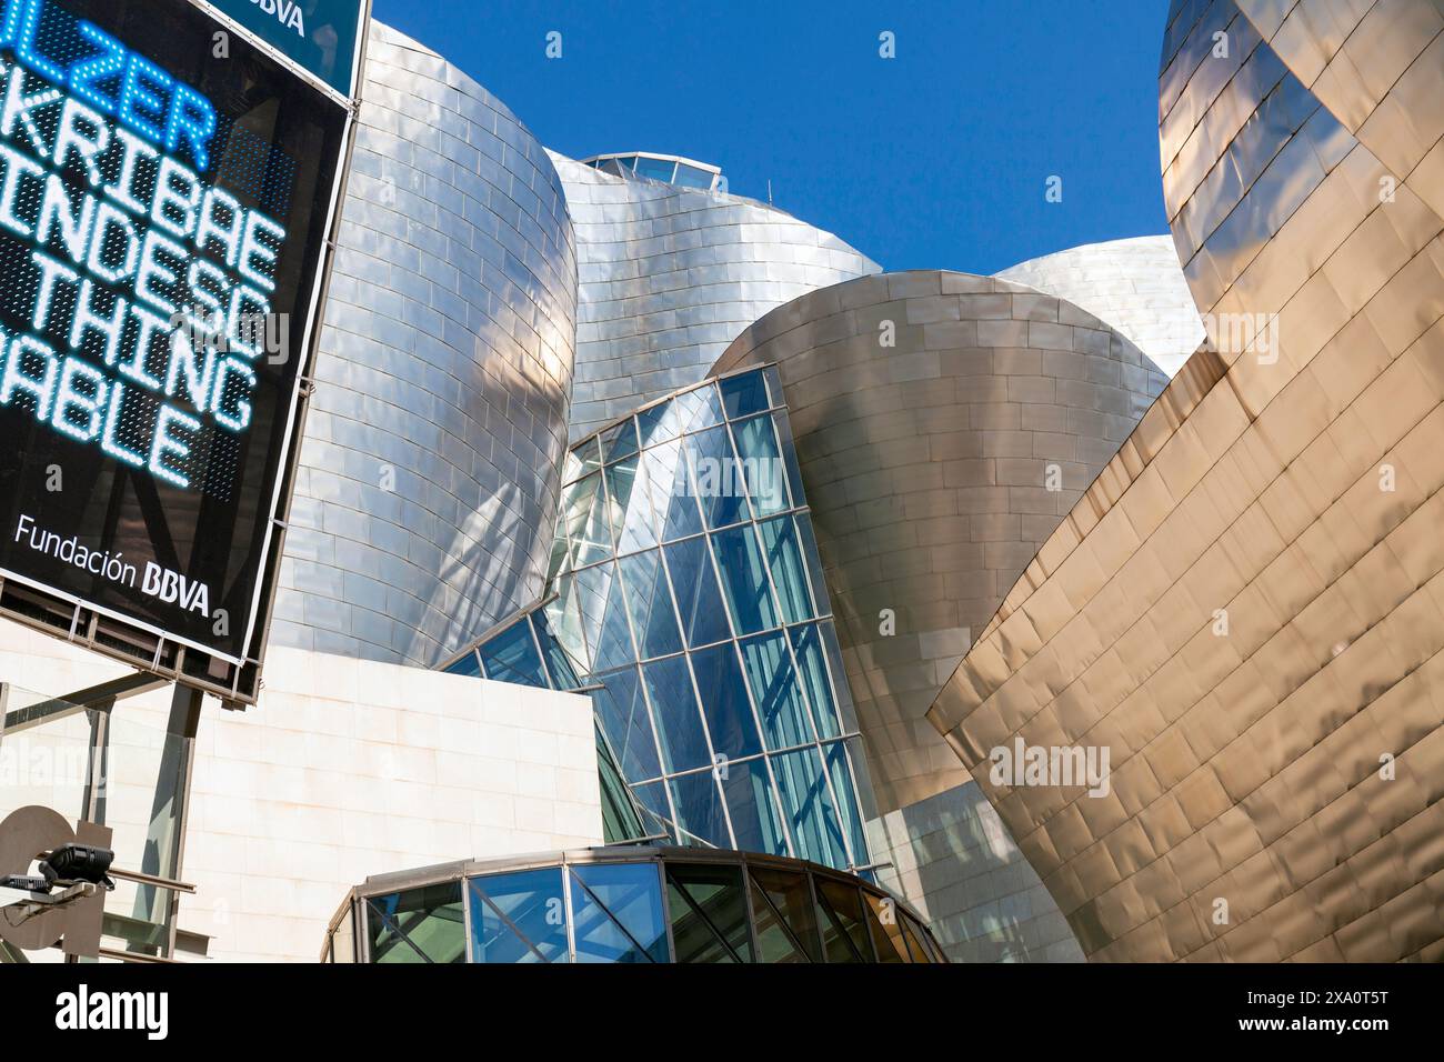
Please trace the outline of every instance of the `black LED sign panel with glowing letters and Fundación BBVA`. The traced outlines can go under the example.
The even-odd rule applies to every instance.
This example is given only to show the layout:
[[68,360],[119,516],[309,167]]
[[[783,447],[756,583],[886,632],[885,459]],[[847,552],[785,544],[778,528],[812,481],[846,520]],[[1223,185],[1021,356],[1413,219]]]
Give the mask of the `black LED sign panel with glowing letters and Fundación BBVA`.
[[347,110],[186,0],[0,12],[0,569],[238,662]]

